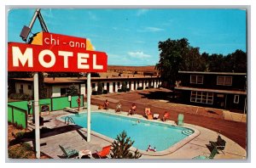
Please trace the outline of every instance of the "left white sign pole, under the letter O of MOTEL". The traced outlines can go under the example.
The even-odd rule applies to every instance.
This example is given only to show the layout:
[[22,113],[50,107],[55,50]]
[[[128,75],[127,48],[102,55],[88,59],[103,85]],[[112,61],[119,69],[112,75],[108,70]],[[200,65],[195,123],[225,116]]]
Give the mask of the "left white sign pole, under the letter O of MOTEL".
[[34,73],[34,116],[36,136],[36,157],[40,159],[40,127],[39,127],[39,94],[38,94],[38,72]]

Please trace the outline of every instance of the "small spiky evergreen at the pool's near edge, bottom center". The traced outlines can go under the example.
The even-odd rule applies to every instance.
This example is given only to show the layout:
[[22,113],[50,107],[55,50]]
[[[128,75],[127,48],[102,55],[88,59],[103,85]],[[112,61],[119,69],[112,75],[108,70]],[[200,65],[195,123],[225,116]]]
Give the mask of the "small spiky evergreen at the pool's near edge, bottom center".
[[138,159],[142,157],[142,154],[136,150],[134,153],[130,151],[134,141],[131,141],[131,137],[127,137],[125,131],[121,132],[112,143],[112,153],[110,154],[113,159]]

